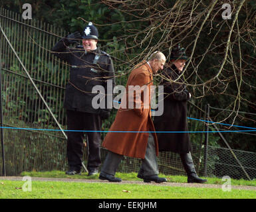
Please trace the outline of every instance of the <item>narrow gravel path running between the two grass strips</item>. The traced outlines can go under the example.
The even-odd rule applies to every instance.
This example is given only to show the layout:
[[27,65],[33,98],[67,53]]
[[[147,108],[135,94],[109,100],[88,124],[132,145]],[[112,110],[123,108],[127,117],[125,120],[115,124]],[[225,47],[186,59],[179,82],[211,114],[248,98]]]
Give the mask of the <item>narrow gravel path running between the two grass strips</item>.
[[[0,177],[1,180],[19,180],[21,181],[23,177]],[[186,184],[186,183],[172,183],[165,182],[162,184],[156,183],[144,183],[143,181],[128,181],[124,180],[120,183],[111,183],[104,180],[82,180],[82,179],[68,179],[68,178],[32,178],[34,181],[59,181],[59,182],[81,182],[81,183],[102,183],[102,184],[139,184],[139,185],[161,185],[161,186],[173,186],[173,187],[207,187],[207,188],[219,188],[222,185],[217,184]],[[256,186],[249,185],[231,185],[231,189],[245,189],[256,191]]]

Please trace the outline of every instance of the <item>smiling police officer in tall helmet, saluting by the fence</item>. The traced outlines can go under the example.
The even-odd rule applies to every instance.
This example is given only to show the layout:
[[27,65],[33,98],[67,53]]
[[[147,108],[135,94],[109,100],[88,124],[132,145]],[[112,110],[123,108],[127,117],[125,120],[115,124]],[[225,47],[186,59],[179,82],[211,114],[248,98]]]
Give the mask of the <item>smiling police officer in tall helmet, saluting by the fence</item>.
[[[68,47],[82,39],[82,46]],[[100,166],[100,129],[102,120],[107,119],[110,110],[95,109],[92,99],[92,87],[102,85],[106,89],[107,81],[114,87],[114,68],[108,54],[97,48],[98,30],[92,24],[84,28],[82,35],[74,32],[55,44],[52,51],[70,65],[69,81],[66,85],[64,108],[67,115],[67,146],[68,171],[66,174],[80,174],[82,168],[82,147],[84,132],[88,136],[88,175],[98,173]],[[105,99],[106,96],[105,96]],[[105,101],[106,102],[106,101]]]

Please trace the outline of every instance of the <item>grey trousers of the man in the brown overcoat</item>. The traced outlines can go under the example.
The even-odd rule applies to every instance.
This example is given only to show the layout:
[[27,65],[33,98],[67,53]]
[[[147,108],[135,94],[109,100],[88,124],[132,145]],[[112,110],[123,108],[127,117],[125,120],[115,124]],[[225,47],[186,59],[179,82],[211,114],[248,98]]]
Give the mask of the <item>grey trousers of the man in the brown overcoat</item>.
[[[102,166],[101,173],[114,176],[122,159],[124,159],[124,156],[109,151]],[[145,158],[142,159],[142,165],[140,167],[139,174],[142,176],[152,176],[159,174],[154,136],[151,133],[148,136],[146,154]]]

